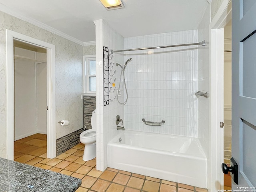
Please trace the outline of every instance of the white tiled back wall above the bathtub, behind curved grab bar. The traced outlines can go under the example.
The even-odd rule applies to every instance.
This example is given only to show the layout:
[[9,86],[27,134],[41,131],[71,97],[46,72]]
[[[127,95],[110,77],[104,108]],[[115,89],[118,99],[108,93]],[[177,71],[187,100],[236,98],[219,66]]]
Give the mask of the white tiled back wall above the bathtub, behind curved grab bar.
[[[201,39],[199,41],[202,41]],[[124,38],[124,49],[198,42],[198,30]],[[198,46],[130,51],[126,130],[198,136]],[[147,126],[142,118],[161,122]]]

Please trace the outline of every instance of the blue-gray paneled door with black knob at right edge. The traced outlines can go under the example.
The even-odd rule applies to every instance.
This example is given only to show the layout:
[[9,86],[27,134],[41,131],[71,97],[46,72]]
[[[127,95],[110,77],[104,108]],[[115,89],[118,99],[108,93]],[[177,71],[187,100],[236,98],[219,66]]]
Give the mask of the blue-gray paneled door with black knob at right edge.
[[232,157],[239,187],[256,187],[256,0],[232,0]]

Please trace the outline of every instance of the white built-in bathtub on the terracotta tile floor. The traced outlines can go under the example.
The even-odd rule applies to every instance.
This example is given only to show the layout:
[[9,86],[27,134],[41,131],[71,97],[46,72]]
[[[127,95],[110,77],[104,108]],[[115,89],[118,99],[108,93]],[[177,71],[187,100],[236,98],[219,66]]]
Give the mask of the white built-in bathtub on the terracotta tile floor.
[[207,159],[198,138],[125,130],[107,149],[110,168],[207,188]]

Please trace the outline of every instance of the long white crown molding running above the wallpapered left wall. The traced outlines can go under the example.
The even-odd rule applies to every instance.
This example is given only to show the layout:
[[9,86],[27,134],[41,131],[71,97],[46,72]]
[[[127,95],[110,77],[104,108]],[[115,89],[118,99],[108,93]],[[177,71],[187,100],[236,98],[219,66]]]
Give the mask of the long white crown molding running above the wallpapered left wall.
[[7,6],[5,6],[5,5],[3,5],[1,3],[0,3],[0,11],[2,11],[4,13],[7,13],[7,14],[9,14],[11,16],[14,16],[16,18],[19,18],[21,20],[24,20],[24,21],[26,21],[28,23],[31,23],[31,24],[33,24],[35,26],[38,26],[38,27],[40,27],[40,28],[42,28],[44,30],[47,30],[47,31],[49,31],[49,32],[51,32],[53,34],[58,35],[58,36],[61,36],[61,37],[65,38],[65,39],[67,39],[67,40],[70,40],[70,41],[74,42],[74,43],[77,43],[79,45],[84,46],[84,42],[82,42],[82,41],[80,41],[80,40],[78,40],[78,39],[76,39],[76,38],[74,38],[74,37],[72,37],[72,36],[70,36],[70,35],[68,35],[66,33],[63,33],[63,32],[61,32],[59,30],[56,30],[55,28],[52,28],[52,27],[50,27],[50,26],[48,26],[48,25],[46,25],[46,24],[44,24],[44,23],[42,23],[42,22],[40,22],[38,20],[35,20],[35,19],[30,18],[28,16],[25,16],[23,14],[20,14],[20,13],[14,11],[14,10],[11,10],[10,8],[8,8]]

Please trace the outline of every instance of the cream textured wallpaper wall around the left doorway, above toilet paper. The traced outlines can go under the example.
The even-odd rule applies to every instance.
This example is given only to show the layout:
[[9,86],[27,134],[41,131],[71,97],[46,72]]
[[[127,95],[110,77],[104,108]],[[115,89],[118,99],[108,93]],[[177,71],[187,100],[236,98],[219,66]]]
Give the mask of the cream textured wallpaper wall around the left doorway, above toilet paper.
[[[6,29],[56,47],[56,138],[83,127],[83,47],[28,22],[0,12],[0,157],[6,157]],[[60,126],[58,120],[69,120]]]

